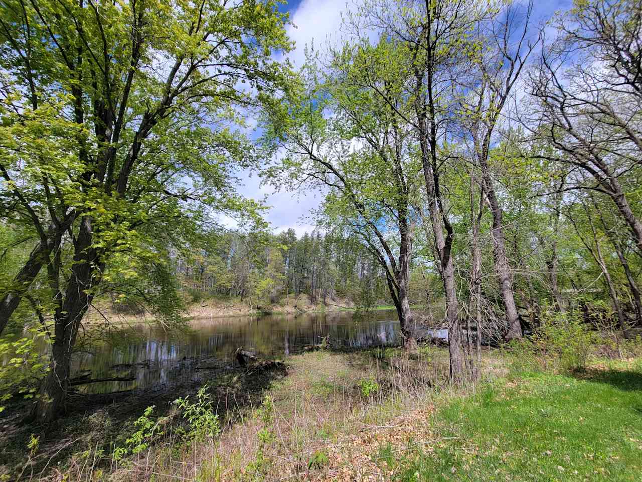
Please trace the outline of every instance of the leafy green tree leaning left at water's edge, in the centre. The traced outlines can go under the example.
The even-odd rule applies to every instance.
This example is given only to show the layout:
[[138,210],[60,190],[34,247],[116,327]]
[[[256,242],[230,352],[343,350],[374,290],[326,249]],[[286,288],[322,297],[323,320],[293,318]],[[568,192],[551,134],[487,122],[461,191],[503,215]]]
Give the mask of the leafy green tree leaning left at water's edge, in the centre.
[[[397,309],[404,345],[416,346],[408,301],[414,195],[412,136],[377,89],[397,91],[399,51],[385,37],[376,45],[351,45],[331,53],[325,78],[306,67],[306,84],[289,99],[290,119],[269,126],[287,153],[273,181],[288,188],[303,184],[325,190],[327,226],[358,238],[385,272]],[[311,61],[310,61],[311,62]],[[327,117],[326,117],[327,116]]]

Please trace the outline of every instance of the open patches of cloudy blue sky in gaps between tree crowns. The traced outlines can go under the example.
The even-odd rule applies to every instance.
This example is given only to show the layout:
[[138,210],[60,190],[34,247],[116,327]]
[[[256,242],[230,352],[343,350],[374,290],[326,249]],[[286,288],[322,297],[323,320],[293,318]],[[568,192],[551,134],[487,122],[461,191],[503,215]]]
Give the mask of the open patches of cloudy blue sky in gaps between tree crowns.
[[[304,61],[306,45],[314,44],[315,48],[322,47],[329,40],[336,40],[342,22],[342,13],[360,0],[292,0],[281,6],[282,11],[290,12],[291,25],[287,31],[291,40],[295,41],[295,49],[287,57],[295,67],[300,67]],[[393,1],[393,0],[391,0]],[[532,20],[542,22],[550,17],[555,10],[566,10],[571,6],[570,0],[534,0]],[[274,192],[270,186],[261,186],[261,179],[256,173],[243,172],[239,175],[242,186],[239,193],[252,199],[266,197],[271,206],[266,214],[266,220],[272,224],[275,233],[293,228],[297,235],[314,228],[309,219],[310,211],[317,208],[322,197],[320,193],[302,191],[299,193]]]

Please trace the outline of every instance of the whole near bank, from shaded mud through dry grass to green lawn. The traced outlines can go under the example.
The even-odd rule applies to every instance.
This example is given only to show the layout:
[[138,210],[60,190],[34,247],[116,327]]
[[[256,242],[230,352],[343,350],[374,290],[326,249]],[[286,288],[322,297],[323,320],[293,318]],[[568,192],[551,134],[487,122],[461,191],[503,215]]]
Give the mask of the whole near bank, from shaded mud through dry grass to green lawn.
[[[48,433],[22,429],[2,463],[10,452],[12,469],[67,481],[636,480],[642,359],[595,358],[577,373],[512,361],[483,350],[482,379],[464,388],[449,385],[447,350],[433,346],[320,350],[274,370],[213,367],[137,403],[94,397]],[[216,413],[216,430],[189,433],[169,402],[196,401],[203,386],[211,398],[200,407]],[[146,406],[155,408],[136,424]],[[31,432],[35,449],[19,459]]]

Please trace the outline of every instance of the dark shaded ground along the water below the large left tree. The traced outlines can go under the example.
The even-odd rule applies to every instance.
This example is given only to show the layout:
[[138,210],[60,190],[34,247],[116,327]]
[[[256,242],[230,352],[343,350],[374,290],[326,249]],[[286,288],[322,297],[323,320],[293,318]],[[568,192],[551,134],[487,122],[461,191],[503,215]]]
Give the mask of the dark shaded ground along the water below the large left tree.
[[[173,400],[193,396],[205,383],[209,384],[221,424],[234,424],[248,407],[261,403],[263,391],[274,380],[287,375],[284,367],[248,373],[214,359],[200,360],[198,364],[208,369],[196,371],[189,380],[176,384],[144,391],[75,395],[66,412],[48,426],[24,423],[30,404],[15,402],[0,418],[0,477],[5,474],[8,480],[14,480],[22,472],[22,478],[38,479],[61,463],[64,467],[72,454],[88,447],[111,454],[114,447],[124,445],[126,436],[133,431],[133,421],[146,407],[155,406],[155,414],[166,415]],[[39,437],[39,447],[27,464],[26,447],[31,434]]]

